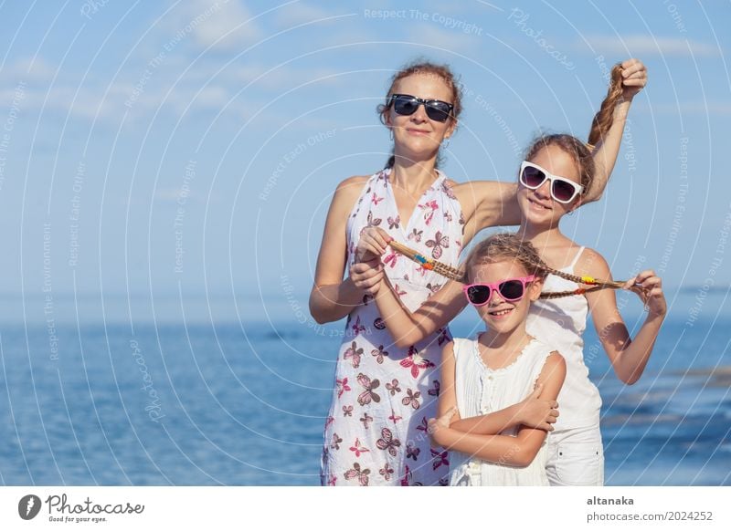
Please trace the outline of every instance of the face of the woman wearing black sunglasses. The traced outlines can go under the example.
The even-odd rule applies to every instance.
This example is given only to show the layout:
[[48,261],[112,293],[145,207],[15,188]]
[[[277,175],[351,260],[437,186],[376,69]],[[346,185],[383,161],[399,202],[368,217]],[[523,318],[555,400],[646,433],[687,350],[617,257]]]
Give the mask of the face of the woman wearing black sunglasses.
[[[453,103],[451,90],[444,80],[426,73],[400,79],[393,93]],[[397,154],[418,161],[435,155],[441,141],[450,137],[456,120],[431,120],[423,105],[419,105],[416,112],[409,116],[397,114],[391,106],[387,110],[386,125],[393,131]]]

